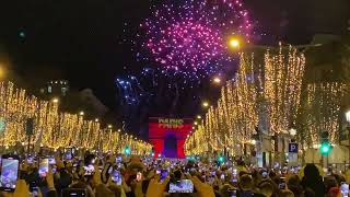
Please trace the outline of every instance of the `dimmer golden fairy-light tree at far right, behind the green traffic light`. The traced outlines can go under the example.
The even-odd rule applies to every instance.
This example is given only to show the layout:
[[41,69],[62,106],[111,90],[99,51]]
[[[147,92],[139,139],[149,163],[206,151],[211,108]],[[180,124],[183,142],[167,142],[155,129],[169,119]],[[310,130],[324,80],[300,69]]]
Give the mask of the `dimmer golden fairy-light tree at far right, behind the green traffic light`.
[[338,142],[343,113],[341,103],[348,86],[341,82],[322,82],[307,85],[306,101],[301,111],[300,141],[304,148],[319,143],[319,134],[328,131],[329,141]]

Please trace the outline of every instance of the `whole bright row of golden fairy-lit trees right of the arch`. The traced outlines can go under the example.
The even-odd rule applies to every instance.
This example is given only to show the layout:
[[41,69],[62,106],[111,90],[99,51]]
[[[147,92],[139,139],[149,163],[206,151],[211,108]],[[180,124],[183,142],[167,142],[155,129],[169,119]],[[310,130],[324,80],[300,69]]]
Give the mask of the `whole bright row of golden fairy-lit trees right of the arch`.
[[[289,130],[296,121],[305,58],[293,47],[266,51],[262,62],[241,54],[240,69],[226,82],[215,107],[210,107],[203,128],[186,140],[186,153],[230,150],[243,154],[259,126],[270,135]],[[202,141],[208,141],[205,148]]]

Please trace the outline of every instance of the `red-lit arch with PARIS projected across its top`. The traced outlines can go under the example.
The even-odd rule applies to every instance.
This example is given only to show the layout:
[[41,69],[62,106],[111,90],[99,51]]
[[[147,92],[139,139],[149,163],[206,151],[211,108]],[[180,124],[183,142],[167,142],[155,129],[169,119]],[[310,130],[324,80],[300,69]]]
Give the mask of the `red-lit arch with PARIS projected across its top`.
[[149,141],[153,146],[154,157],[185,158],[184,143],[192,130],[190,118],[151,117],[149,119]]

